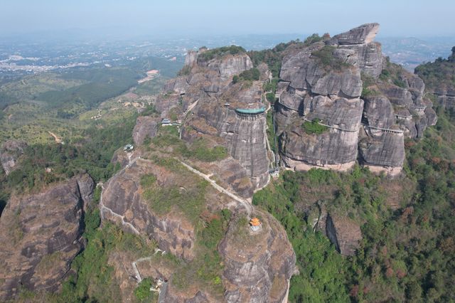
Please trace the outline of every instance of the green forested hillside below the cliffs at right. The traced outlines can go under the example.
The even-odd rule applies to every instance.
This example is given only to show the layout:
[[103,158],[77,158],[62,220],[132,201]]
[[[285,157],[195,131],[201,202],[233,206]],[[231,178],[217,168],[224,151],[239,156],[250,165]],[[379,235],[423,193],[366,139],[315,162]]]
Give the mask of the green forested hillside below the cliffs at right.
[[[442,70],[444,76],[438,74]],[[449,60],[417,68],[429,87],[451,82]],[[436,100],[436,98],[434,98]],[[291,302],[452,302],[455,280],[455,116],[437,107],[438,122],[405,143],[398,179],[355,166],[350,174],[285,172],[253,203],[278,218],[297,255]],[[348,216],[363,240],[353,257],[338,255],[314,209]]]

